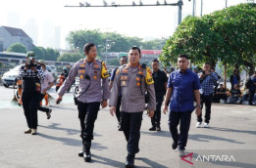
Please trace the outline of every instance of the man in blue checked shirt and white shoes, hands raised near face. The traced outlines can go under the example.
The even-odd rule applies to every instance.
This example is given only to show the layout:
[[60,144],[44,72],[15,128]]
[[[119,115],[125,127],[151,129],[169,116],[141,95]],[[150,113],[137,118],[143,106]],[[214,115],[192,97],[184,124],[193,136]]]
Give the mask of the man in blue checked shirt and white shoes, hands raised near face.
[[[213,101],[213,93],[214,87],[219,80],[216,73],[211,72],[211,64],[204,63],[203,70],[199,74],[200,75],[200,83],[202,89],[200,90],[201,94],[201,108],[203,108],[203,104],[205,104],[205,119],[204,119],[204,127],[209,128],[209,122],[211,119],[211,106]],[[196,127],[201,127],[202,125],[202,115],[197,117]]]

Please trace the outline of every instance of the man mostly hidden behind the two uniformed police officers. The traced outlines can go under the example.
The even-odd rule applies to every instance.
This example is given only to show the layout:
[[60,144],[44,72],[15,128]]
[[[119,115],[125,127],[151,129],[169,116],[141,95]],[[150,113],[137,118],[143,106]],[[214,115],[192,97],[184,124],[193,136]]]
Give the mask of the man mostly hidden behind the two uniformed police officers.
[[[120,64],[123,65],[123,64],[127,64],[127,63],[128,63],[128,58],[126,56],[121,57]],[[112,72],[111,72],[110,83],[109,83],[110,90],[112,89],[117,69],[118,69],[118,67],[115,68],[114,70],[112,70]],[[119,126],[118,126],[119,131],[123,131],[123,129],[121,127],[121,112],[120,112],[121,100],[122,100],[122,95],[120,93],[119,94],[118,103],[117,103],[117,106],[116,106],[116,116],[117,116],[117,119],[119,121]]]

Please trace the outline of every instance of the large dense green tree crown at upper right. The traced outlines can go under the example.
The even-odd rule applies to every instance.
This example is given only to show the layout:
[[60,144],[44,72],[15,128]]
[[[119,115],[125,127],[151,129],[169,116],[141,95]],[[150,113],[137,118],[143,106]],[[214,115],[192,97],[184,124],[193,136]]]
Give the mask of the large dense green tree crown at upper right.
[[187,54],[192,63],[233,63],[256,65],[256,6],[240,4],[202,18],[187,17],[167,41],[162,62],[176,63],[179,54]]

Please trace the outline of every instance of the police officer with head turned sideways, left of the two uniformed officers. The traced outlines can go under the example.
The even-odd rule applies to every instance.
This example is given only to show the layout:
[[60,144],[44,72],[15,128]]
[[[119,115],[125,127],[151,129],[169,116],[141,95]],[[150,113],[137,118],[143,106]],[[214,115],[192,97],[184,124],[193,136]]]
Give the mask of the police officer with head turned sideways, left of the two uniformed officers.
[[[100,105],[107,106],[110,97],[108,77],[109,73],[104,62],[96,60],[97,49],[93,43],[83,47],[85,59],[78,61],[70,70],[68,78],[58,91],[58,104],[66,90],[72,85],[76,76],[79,77],[79,90],[77,94],[78,118],[81,128],[82,150],[78,156],[83,156],[86,162],[91,160],[91,140],[93,140],[94,122],[97,118]],[[102,92],[103,91],[103,92]],[[103,93],[103,94],[102,94]]]

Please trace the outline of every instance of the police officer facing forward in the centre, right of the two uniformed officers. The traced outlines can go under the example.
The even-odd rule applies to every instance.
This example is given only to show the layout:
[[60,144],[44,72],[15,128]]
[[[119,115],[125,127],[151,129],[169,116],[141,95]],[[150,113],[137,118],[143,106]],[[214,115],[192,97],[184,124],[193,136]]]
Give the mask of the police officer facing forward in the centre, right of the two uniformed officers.
[[126,167],[134,166],[135,154],[139,151],[140,126],[145,108],[145,92],[149,95],[148,115],[152,117],[156,108],[155,90],[152,73],[149,67],[140,63],[140,49],[131,47],[128,50],[128,64],[120,66],[116,72],[110,96],[110,113],[116,112],[119,93],[122,92],[122,128],[128,142]]

